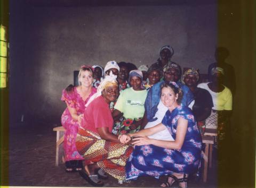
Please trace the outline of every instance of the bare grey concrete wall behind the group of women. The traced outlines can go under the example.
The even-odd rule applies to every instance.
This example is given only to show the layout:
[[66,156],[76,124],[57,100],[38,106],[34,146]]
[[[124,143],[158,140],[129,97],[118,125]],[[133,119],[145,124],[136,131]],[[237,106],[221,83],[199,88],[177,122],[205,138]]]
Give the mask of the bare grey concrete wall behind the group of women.
[[[14,8],[15,7],[15,8]],[[152,64],[165,44],[172,61],[206,73],[217,46],[216,5],[12,7],[11,123],[59,123],[62,89],[82,64]]]

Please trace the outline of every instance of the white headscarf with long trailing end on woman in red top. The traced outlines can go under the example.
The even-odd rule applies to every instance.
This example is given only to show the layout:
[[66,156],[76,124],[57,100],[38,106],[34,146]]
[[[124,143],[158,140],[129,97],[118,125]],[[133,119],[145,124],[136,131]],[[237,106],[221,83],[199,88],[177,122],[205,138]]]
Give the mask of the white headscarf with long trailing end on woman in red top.
[[95,98],[101,96],[101,92],[106,89],[109,86],[117,86],[118,87],[118,83],[116,81],[116,75],[114,75],[112,72],[110,72],[110,75],[106,75],[105,79],[103,79],[100,82],[100,86],[97,88],[97,92],[94,93],[91,98],[89,99],[89,101],[86,103],[85,107],[87,107]]

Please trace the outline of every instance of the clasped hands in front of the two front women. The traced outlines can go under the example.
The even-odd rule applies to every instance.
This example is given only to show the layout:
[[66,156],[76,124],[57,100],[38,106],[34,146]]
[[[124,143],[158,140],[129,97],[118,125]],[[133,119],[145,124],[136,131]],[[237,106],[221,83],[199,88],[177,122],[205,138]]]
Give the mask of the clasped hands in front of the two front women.
[[123,144],[133,144],[134,146],[143,146],[151,144],[151,139],[147,136],[130,136],[127,134],[119,135],[118,139]]

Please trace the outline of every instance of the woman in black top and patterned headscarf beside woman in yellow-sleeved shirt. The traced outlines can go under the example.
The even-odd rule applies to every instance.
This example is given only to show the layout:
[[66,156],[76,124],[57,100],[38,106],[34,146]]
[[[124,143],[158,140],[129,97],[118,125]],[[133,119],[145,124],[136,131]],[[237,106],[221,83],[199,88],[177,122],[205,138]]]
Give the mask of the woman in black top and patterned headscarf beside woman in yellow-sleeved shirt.
[[204,134],[205,119],[210,116],[213,107],[212,96],[206,89],[198,88],[199,73],[196,69],[187,70],[182,76],[182,82],[193,92],[194,101],[189,107],[196,117],[201,134]]

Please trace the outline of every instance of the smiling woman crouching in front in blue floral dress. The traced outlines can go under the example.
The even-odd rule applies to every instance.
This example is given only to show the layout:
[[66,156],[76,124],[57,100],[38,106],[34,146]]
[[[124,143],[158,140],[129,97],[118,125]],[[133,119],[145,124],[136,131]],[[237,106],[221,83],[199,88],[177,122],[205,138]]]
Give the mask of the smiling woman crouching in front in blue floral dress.
[[[120,135],[119,140],[132,140],[135,148],[127,161],[126,180],[138,176],[169,175],[162,187],[170,187],[175,181],[187,186],[188,174],[195,173],[201,160],[202,139],[191,109],[180,106],[182,91],[175,82],[164,83],[161,100],[168,108],[162,123],[135,133]],[[167,130],[166,130],[167,127]],[[149,139],[159,131],[169,131],[174,141]]]

